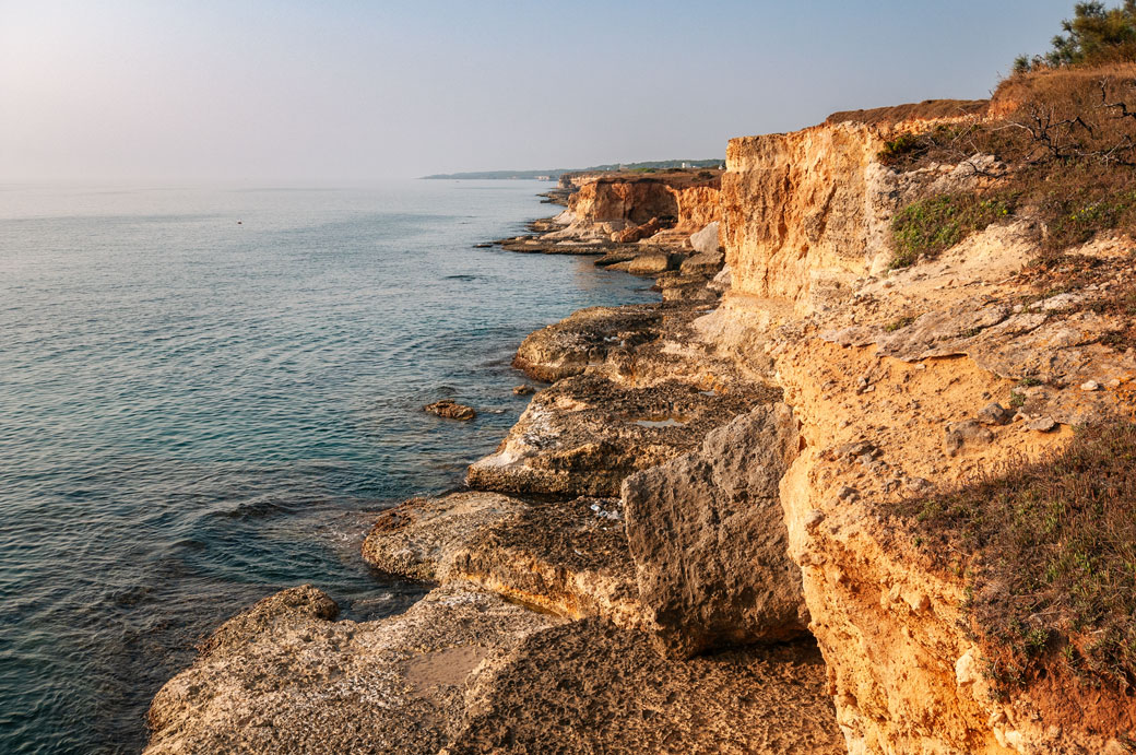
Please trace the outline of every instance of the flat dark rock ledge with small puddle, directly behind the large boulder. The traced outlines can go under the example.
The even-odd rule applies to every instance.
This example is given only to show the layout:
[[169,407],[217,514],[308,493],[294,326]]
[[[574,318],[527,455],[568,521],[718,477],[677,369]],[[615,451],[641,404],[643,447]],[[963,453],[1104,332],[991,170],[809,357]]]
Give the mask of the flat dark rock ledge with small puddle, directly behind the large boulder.
[[496,453],[474,463],[466,479],[506,493],[616,497],[628,474],[692,450],[713,428],[778,395],[722,395],[674,381],[629,388],[575,375],[533,397]]

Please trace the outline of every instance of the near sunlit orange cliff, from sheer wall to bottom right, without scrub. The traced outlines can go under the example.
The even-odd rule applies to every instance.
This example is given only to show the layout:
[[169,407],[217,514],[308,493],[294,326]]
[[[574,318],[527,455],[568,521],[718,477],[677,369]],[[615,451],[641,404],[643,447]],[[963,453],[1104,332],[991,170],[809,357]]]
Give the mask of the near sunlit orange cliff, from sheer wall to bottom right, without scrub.
[[[780,504],[849,752],[1124,752],[1131,698],[1070,680],[995,691],[962,575],[936,569],[889,515],[1062,448],[1074,423],[1130,414],[1136,360],[1099,342],[1122,323],[1029,304],[1026,223],[886,273],[885,232],[911,176],[879,165],[880,146],[858,124],[733,140],[732,289],[702,323],[738,359],[772,358],[801,423]],[[1104,265],[1130,250],[1117,240],[1076,254]],[[1016,397],[1026,376],[1044,384]],[[1001,414],[1022,400],[1013,421]]]

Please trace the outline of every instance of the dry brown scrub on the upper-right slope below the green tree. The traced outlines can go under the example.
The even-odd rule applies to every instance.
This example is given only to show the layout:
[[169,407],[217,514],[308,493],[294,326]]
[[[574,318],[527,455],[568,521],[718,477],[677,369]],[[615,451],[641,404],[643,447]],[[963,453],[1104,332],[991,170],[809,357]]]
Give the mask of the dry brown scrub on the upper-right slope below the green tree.
[[991,111],[999,117],[896,133],[885,143],[880,161],[900,171],[976,154],[1005,166],[969,196],[921,197],[901,208],[893,266],[933,257],[945,241],[961,240],[959,230],[997,219],[970,211],[988,202],[1038,221],[1045,255],[1105,231],[1136,237],[1136,64],[1013,76],[995,92]]

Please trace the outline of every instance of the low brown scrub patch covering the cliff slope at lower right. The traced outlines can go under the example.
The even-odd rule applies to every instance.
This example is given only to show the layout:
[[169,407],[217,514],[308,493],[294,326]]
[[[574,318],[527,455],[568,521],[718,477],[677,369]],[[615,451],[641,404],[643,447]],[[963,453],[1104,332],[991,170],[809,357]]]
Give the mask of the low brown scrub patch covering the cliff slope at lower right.
[[966,574],[964,607],[1001,691],[1053,664],[1136,689],[1136,424],[1079,429],[1049,459],[896,513],[924,551]]

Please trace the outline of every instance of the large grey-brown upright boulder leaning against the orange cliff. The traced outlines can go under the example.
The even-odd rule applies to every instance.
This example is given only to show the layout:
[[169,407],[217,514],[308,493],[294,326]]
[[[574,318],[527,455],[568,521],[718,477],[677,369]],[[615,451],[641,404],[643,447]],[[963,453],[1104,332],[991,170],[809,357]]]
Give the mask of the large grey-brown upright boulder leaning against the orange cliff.
[[640,599],[673,656],[807,631],[778,483],[799,448],[784,404],[710,432],[701,447],[624,481]]

